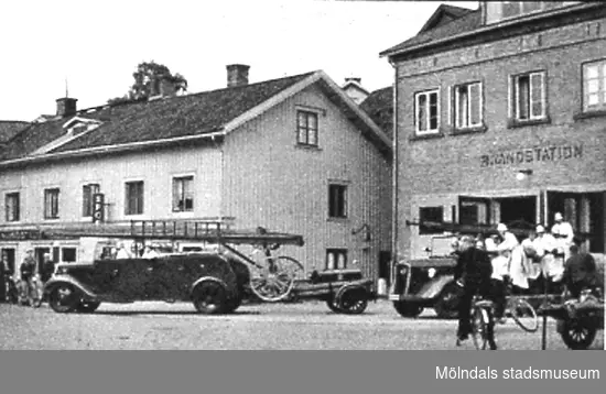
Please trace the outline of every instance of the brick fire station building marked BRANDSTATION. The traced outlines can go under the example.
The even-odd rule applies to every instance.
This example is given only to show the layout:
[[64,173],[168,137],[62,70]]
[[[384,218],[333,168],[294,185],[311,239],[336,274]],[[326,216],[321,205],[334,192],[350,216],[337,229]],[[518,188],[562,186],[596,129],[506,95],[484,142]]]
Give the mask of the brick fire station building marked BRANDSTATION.
[[606,7],[480,2],[442,15],[381,54],[396,70],[399,258],[426,256],[435,233],[410,222],[551,226],[559,211],[603,259]]

